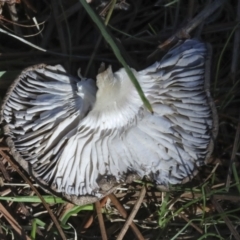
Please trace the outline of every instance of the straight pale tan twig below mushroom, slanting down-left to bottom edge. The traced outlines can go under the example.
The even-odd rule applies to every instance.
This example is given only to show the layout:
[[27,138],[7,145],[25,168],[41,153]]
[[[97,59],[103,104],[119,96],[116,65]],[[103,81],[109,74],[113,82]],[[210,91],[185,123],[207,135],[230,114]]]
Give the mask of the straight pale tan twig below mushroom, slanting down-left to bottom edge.
[[132,223],[134,217],[136,216],[136,214],[137,214],[137,212],[138,212],[138,209],[140,208],[140,206],[141,206],[141,204],[142,204],[142,201],[143,201],[143,198],[144,198],[145,194],[146,194],[146,188],[145,188],[145,186],[143,186],[143,187],[142,187],[142,190],[141,190],[141,193],[140,193],[140,195],[139,195],[139,198],[138,198],[136,204],[134,205],[133,210],[132,210],[132,212],[130,213],[127,221],[125,222],[125,224],[124,224],[121,232],[119,233],[119,235],[118,235],[118,237],[117,237],[117,240],[123,239],[123,237],[124,237],[124,235],[126,234],[126,232],[127,232],[128,228],[129,228],[130,224]]

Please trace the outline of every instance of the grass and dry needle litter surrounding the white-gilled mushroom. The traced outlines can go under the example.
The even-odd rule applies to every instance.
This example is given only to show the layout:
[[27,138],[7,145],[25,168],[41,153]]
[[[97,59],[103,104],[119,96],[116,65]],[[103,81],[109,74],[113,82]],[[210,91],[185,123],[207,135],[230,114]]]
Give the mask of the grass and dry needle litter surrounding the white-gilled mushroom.
[[[2,7],[0,28],[47,51],[0,33],[0,98],[16,75],[30,65],[62,64],[73,75],[80,67],[83,75],[92,78],[101,62],[113,65],[115,70],[120,67],[79,1],[17,2]],[[93,0],[91,6],[102,18],[110,16],[110,34],[127,64],[139,70],[160,58],[164,51],[156,53],[156,47],[211,1],[117,1],[120,9],[112,14],[108,5],[100,6],[100,2]],[[49,206],[46,208],[30,187],[31,178],[24,173],[27,179],[23,179],[10,164],[12,158],[1,135],[0,239],[102,239],[104,235],[117,239],[124,227],[129,227],[124,239],[240,239],[239,22],[240,1],[229,0],[190,33],[213,47],[211,90],[219,115],[212,161],[193,181],[173,186],[169,192],[135,182],[121,186],[115,193],[117,199],[110,196],[95,206],[83,207],[46,196],[36,187]],[[141,190],[143,184],[146,194]],[[133,216],[131,211],[139,199],[141,204]],[[128,216],[134,220],[128,220],[126,226]]]

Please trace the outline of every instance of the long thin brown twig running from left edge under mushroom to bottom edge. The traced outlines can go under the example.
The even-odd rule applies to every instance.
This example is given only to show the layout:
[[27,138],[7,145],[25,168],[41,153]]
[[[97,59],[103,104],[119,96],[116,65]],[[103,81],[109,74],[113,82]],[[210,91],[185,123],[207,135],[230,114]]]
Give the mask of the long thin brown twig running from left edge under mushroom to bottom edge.
[[0,149],[0,154],[2,155],[2,157],[4,157],[11,165],[12,167],[18,172],[18,174],[23,178],[23,180],[29,184],[29,186],[31,187],[31,189],[36,193],[36,195],[41,199],[43,206],[47,209],[50,217],[52,218],[61,238],[63,240],[67,240],[67,238],[65,237],[65,234],[60,226],[60,224],[58,223],[58,220],[56,219],[56,217],[54,216],[54,214],[52,213],[52,210],[50,209],[50,207],[48,206],[48,204],[45,202],[44,198],[42,197],[42,195],[38,192],[38,190],[33,186],[33,184],[31,183],[31,181],[22,173],[22,171],[18,168],[18,166],[11,160],[11,158],[6,155],[1,149]]

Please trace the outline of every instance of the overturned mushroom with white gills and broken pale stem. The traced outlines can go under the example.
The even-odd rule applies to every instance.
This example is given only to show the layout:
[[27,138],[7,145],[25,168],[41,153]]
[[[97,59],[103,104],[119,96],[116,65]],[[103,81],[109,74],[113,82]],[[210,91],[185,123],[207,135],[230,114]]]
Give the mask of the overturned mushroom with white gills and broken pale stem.
[[150,67],[132,69],[153,114],[123,68],[108,67],[95,83],[60,65],[30,67],[2,105],[7,144],[44,189],[79,205],[136,176],[180,184],[206,163],[217,134],[210,52],[189,39]]

